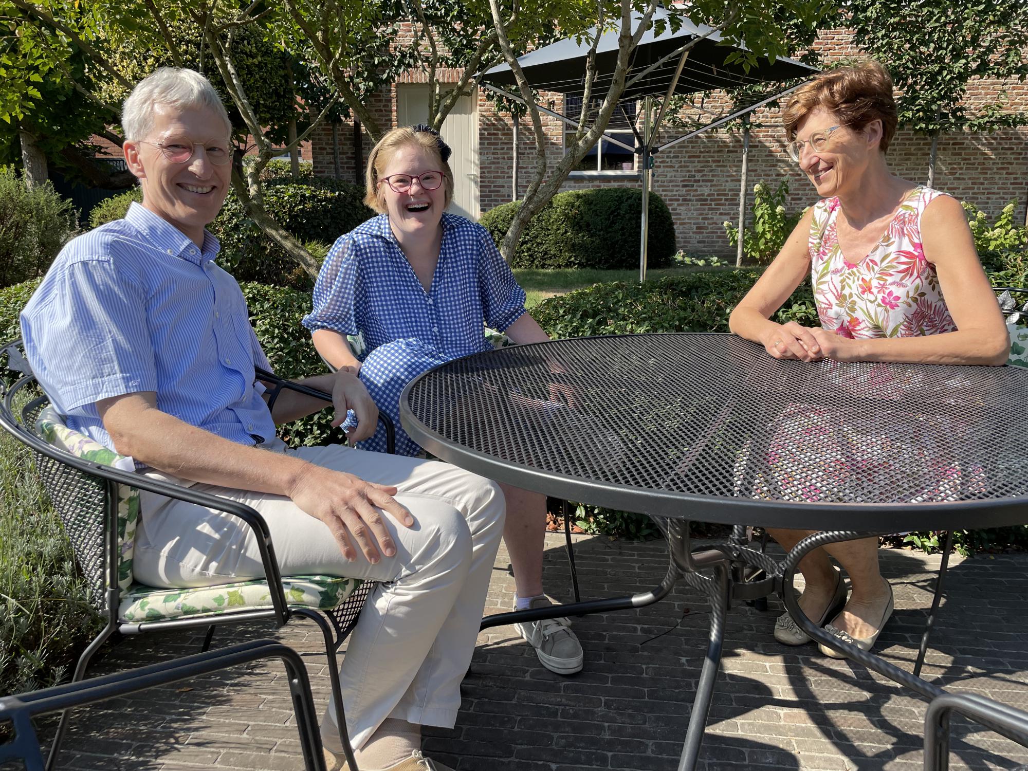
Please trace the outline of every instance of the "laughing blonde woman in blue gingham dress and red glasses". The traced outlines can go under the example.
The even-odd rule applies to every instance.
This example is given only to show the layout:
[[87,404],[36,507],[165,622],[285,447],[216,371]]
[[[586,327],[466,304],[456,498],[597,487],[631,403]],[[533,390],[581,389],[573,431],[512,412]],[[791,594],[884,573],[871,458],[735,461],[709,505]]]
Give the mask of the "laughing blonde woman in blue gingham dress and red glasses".
[[[490,350],[484,325],[515,343],[549,339],[525,311],[524,290],[488,231],[446,213],[453,198],[449,156],[439,133],[426,125],[394,128],[379,140],[368,157],[365,197],[379,216],[336,241],[315,286],[314,310],[303,319],[326,361],[359,372],[396,425],[397,452],[407,455],[421,451],[400,426],[400,394],[411,379]],[[346,335],[360,335],[365,351],[355,356]],[[383,450],[382,432],[362,447]],[[515,609],[548,605],[546,498],[501,486]],[[516,626],[551,671],[572,674],[582,668],[582,646],[566,619]]]

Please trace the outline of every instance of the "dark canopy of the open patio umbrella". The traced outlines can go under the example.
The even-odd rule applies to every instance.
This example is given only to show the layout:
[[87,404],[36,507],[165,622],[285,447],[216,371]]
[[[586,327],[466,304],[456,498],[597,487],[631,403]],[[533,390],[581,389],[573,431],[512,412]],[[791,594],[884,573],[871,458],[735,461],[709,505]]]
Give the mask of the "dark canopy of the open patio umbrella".
[[[657,8],[653,21],[667,19],[668,13],[663,8]],[[639,24],[641,16],[635,14],[633,27]],[[691,39],[700,37],[710,28],[694,25],[684,20],[677,32],[672,32],[668,25],[661,35],[655,35],[651,27],[644,33],[634,53],[628,79],[639,73],[663,57],[667,57],[688,43]],[[561,94],[581,94],[585,83],[586,53],[589,50],[589,39],[593,31],[587,32],[581,43],[574,38],[565,38],[551,45],[538,48],[518,59],[524,70],[528,83],[542,90]],[[818,70],[792,59],[777,59],[772,64],[765,58],[758,60],[755,67],[746,72],[741,63],[726,64],[725,60],[733,50],[743,48],[721,44],[721,36],[711,34],[689,51],[682,76],[675,83],[676,94],[695,94],[696,91],[715,88],[731,88],[749,83],[782,81],[792,78],[806,77]],[[744,48],[743,48],[744,49]],[[618,32],[609,30],[599,39],[596,48],[596,78],[594,88],[602,93],[610,83],[618,59]],[[670,86],[674,71],[678,65],[678,57],[670,57],[667,62],[655,68],[632,86],[625,89],[622,99],[630,100],[648,95],[664,94]],[[498,86],[516,86],[514,73],[507,64],[493,67],[485,73],[485,82]]]

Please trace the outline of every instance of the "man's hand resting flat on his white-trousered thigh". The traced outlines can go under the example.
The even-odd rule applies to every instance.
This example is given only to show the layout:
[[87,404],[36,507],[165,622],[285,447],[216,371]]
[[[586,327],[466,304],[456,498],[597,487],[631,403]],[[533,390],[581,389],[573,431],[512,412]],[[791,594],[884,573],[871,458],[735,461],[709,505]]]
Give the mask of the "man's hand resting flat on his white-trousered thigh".
[[387,557],[396,554],[379,509],[404,527],[414,524],[410,512],[393,499],[396,493],[396,487],[314,464],[306,466],[289,490],[293,503],[328,525],[343,557],[356,559],[359,548],[372,564],[381,559],[379,550]]

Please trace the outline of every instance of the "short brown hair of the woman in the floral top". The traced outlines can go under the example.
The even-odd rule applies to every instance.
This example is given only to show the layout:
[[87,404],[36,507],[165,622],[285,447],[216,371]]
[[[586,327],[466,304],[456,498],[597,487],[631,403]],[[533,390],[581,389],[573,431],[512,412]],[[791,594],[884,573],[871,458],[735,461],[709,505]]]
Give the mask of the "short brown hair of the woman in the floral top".
[[840,124],[856,131],[881,120],[882,141],[878,147],[883,153],[889,149],[896,132],[896,103],[892,78],[878,62],[869,59],[823,72],[797,90],[781,113],[790,142],[796,139],[797,126],[817,108],[828,110]]

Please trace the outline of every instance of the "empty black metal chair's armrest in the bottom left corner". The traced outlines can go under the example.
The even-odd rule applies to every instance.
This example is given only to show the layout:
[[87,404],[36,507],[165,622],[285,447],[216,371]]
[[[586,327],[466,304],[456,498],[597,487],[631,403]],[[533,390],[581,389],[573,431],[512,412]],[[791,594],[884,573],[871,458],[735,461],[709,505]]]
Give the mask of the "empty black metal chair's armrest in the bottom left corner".
[[286,666],[304,767],[307,771],[325,771],[325,756],[306,667],[296,651],[273,639],[242,642],[124,672],[0,698],[0,725],[9,722],[14,732],[11,741],[0,744],[0,765],[7,761],[22,761],[26,771],[43,771],[43,755],[32,725],[35,715],[49,712],[67,714],[74,707],[269,658],[281,659]]

